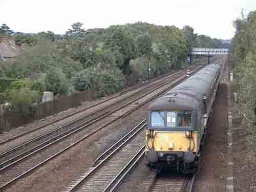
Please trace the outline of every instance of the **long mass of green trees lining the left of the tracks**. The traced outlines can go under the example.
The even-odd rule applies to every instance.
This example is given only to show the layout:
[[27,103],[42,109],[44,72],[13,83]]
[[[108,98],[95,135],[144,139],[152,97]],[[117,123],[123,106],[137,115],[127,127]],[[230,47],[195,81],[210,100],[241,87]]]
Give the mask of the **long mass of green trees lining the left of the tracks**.
[[127,81],[147,80],[150,63],[154,77],[180,69],[192,47],[221,46],[220,40],[194,34],[189,26],[141,22],[106,29],[82,26],[75,23],[65,35],[56,35],[51,31],[13,34],[3,25],[0,33],[12,35],[16,45],[25,47],[17,58],[0,62],[0,78],[19,79],[8,92],[52,91],[56,96],[94,89],[108,95]]

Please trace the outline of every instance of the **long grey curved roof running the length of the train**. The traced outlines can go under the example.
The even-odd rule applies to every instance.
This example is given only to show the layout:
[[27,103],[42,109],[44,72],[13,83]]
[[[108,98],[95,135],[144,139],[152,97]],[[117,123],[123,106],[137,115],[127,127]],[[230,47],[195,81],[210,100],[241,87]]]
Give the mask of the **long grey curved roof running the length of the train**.
[[153,102],[148,110],[196,110],[220,69],[217,64],[206,66]]

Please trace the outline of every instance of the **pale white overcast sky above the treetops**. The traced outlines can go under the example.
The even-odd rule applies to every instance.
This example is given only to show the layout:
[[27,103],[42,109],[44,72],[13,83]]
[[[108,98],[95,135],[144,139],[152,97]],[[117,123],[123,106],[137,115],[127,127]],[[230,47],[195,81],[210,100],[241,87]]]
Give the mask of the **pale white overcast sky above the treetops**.
[[211,38],[230,39],[233,20],[256,10],[255,0],[0,0],[0,25],[18,32],[64,34],[76,22],[84,29],[146,22],[182,28]]

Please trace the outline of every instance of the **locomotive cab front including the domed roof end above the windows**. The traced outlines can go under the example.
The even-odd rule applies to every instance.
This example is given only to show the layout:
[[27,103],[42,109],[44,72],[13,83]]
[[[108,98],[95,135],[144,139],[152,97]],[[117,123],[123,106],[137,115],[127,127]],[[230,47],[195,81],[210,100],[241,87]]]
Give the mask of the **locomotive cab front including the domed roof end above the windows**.
[[[163,96],[158,102],[148,108],[147,114],[145,153],[148,165],[178,165],[179,172],[195,172],[200,127],[198,102],[182,94]],[[181,168],[184,164],[187,167],[193,164],[193,169]]]

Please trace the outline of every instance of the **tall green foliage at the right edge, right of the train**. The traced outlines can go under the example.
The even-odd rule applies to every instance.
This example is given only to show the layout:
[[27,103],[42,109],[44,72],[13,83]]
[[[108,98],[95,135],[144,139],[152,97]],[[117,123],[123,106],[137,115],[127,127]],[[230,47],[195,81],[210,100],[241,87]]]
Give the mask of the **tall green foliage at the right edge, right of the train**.
[[[235,20],[230,63],[239,79],[239,97],[247,112],[256,112],[256,11]],[[241,102],[242,103],[242,102]]]

